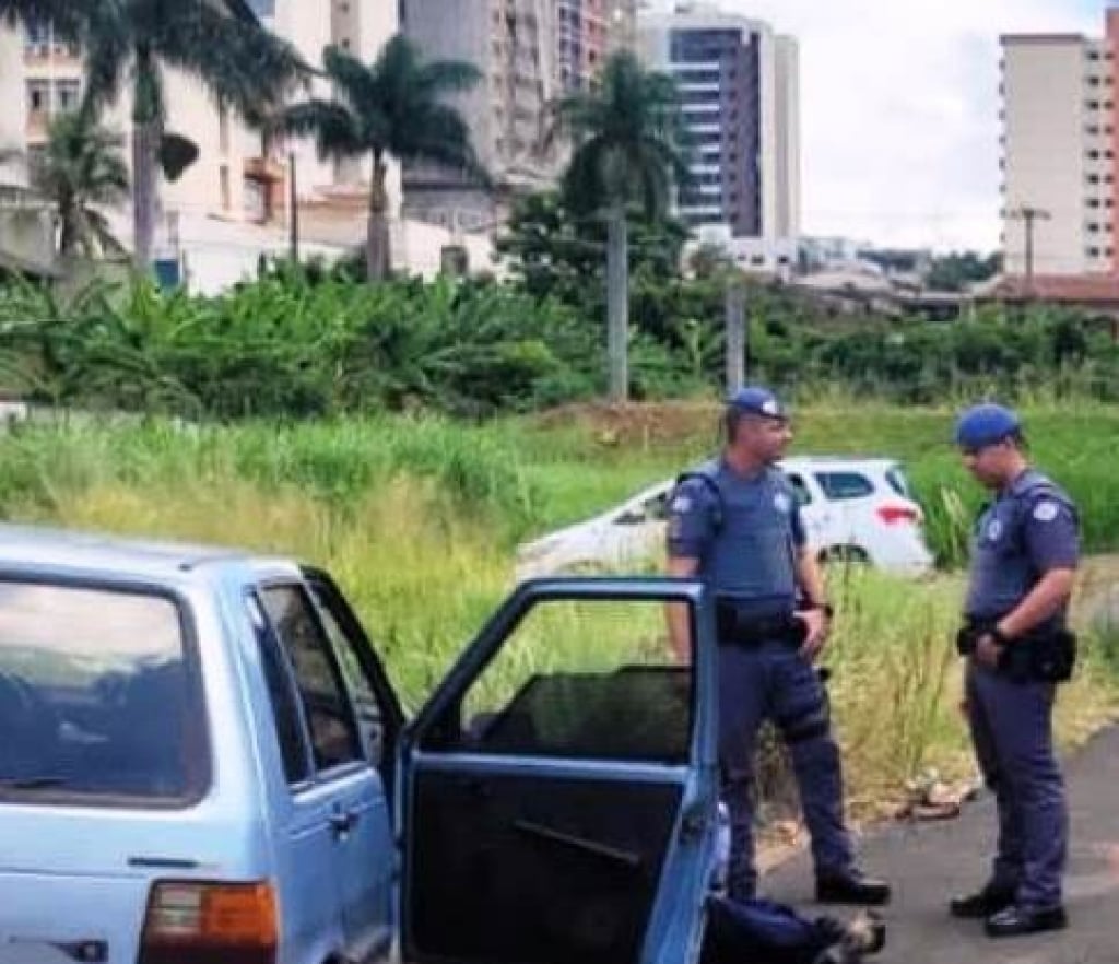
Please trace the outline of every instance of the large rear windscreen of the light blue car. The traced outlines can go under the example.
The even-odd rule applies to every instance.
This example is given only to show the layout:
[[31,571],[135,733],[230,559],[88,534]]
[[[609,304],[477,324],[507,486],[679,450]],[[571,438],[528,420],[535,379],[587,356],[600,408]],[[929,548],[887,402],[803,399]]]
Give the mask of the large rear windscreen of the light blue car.
[[195,796],[195,665],[166,596],[0,582],[0,795]]

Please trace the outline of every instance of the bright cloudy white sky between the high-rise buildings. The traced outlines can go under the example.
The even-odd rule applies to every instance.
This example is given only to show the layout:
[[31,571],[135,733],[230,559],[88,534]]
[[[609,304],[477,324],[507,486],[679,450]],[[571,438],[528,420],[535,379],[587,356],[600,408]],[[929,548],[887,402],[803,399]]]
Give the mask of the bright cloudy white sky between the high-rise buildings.
[[715,0],[800,43],[802,227],[998,246],[1000,34],[1103,35],[1106,0]]

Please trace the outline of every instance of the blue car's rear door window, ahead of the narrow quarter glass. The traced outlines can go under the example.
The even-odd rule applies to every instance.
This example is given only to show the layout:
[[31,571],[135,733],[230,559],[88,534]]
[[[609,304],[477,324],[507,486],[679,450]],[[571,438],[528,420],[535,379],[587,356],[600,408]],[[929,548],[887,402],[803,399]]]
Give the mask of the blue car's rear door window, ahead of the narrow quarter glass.
[[294,670],[316,769],[360,759],[357,726],[341,672],[314,603],[301,586],[270,586],[262,590],[261,599]]

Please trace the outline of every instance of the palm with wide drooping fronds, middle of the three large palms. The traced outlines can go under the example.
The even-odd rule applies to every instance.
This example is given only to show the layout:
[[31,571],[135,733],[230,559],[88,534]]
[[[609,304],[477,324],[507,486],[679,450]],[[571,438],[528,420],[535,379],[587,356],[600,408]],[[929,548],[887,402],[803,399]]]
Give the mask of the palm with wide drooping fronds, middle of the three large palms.
[[388,158],[429,161],[485,175],[461,114],[445,103],[448,94],[469,90],[480,79],[470,64],[423,62],[403,35],[385,44],[372,66],[337,47],[322,55],[336,100],[312,97],[289,107],[281,127],[297,135],[312,135],[320,156],[335,159],[372,158],[366,272],[370,280],[388,274]]

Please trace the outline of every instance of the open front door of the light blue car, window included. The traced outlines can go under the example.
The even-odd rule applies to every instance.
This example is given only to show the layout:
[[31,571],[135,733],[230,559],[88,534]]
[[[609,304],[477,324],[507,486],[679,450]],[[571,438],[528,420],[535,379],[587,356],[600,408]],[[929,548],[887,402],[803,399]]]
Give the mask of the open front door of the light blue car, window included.
[[[690,612],[676,665],[665,605]],[[699,583],[521,584],[402,741],[410,964],[688,964],[714,855]]]

